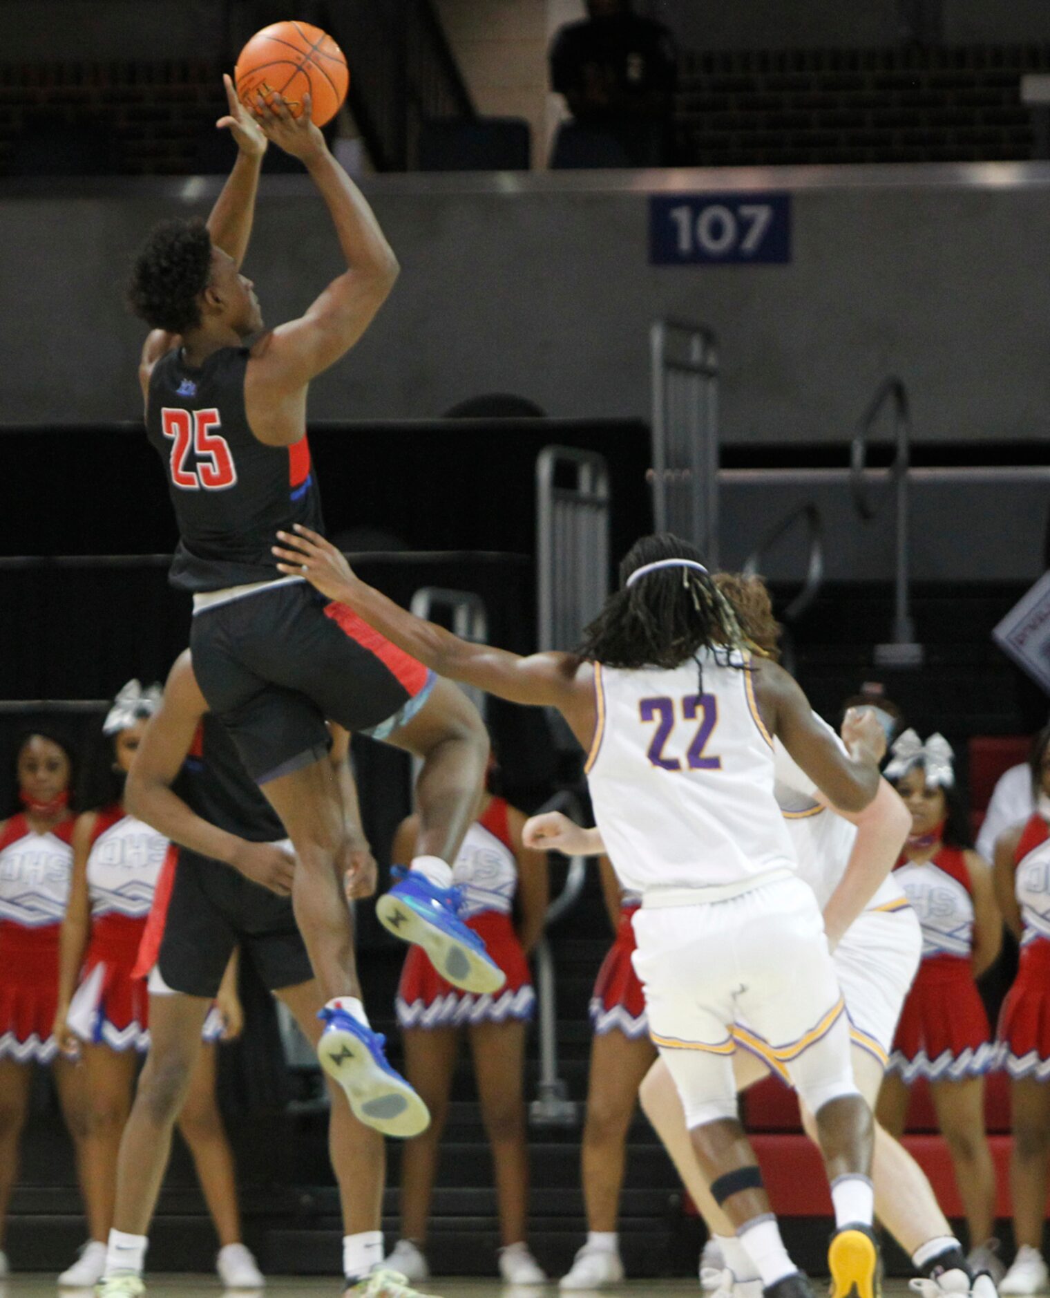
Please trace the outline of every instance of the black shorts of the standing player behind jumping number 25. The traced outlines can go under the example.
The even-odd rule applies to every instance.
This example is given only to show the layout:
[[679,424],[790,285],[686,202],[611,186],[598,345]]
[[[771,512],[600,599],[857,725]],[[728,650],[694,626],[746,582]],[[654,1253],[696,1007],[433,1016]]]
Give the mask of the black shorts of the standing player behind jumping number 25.
[[210,999],[235,946],[271,992],[314,976],[291,897],[180,848],[157,955],[161,977],[173,992]]

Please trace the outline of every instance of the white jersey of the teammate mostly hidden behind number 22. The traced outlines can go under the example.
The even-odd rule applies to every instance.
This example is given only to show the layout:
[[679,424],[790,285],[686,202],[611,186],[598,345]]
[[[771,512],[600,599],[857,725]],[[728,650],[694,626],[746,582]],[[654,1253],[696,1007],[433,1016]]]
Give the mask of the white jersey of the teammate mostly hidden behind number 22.
[[[831,726],[816,713],[812,715],[845,753],[846,745]],[[845,816],[828,810],[823,802],[818,802],[816,785],[779,739],[774,740],[774,757],[776,772],[774,793],[788,823],[794,854],[798,858],[798,875],[816,893],[823,910],[846,872],[857,840],[857,827]],[[889,874],[864,909],[902,910],[905,906],[907,897],[893,874]]]

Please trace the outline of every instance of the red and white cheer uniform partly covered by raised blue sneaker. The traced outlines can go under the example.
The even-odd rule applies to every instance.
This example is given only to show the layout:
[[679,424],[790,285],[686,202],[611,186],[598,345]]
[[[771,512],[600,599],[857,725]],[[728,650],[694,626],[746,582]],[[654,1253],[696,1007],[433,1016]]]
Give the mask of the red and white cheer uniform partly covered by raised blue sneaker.
[[536,993],[511,919],[518,862],[504,798],[491,798],[482,816],[467,829],[452,867],[452,880],[462,892],[459,918],[484,941],[488,954],[506,974],[506,983],[496,994],[463,992],[437,974],[422,946],[413,946],[397,988],[398,1024],[402,1028],[458,1028],[531,1019]]

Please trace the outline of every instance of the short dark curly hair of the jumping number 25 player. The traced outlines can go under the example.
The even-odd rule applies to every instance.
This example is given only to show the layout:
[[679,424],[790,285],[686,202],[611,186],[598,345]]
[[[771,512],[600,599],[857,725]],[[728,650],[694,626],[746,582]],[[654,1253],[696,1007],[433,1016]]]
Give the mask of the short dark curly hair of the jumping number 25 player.
[[127,302],[151,328],[184,334],[200,324],[197,299],[212,274],[212,236],[202,221],[164,221],[131,271]]

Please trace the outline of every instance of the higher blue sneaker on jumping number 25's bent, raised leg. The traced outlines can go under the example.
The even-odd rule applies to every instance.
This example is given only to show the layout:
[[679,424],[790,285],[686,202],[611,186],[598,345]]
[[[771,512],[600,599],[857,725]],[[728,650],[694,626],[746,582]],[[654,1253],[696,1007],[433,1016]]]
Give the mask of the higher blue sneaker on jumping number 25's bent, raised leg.
[[482,938],[459,919],[458,888],[437,888],[418,870],[395,866],[396,880],[375,906],[379,923],[395,937],[422,946],[441,977],[463,992],[498,992],[506,974]]

